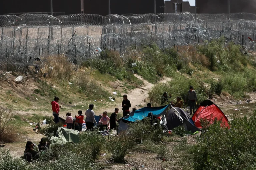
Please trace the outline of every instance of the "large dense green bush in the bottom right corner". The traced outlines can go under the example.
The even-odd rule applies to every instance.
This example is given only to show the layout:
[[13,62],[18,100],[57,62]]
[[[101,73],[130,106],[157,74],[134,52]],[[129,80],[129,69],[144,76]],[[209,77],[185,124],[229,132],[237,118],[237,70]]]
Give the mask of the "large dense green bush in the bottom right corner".
[[250,119],[235,117],[230,129],[218,122],[205,130],[192,151],[195,170],[256,168],[256,112]]

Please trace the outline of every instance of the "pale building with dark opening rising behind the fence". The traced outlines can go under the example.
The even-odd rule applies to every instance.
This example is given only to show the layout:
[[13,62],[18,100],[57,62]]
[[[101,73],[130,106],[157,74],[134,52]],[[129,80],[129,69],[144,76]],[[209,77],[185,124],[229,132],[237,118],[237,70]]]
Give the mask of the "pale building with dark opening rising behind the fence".
[[190,12],[195,13],[195,6],[190,6],[189,2],[182,0],[170,0],[164,3],[165,13]]

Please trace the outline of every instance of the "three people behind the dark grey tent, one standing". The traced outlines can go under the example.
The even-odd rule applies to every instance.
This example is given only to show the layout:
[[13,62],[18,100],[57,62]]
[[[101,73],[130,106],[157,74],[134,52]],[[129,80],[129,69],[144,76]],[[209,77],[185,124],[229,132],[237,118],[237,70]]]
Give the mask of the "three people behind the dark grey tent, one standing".
[[[169,101],[169,99],[172,98],[172,95],[167,94],[167,92],[164,92],[163,96],[162,96],[162,100],[161,100],[161,105],[167,103]],[[171,102],[171,105],[173,107],[178,107],[178,108],[182,108],[183,106],[183,101],[181,100],[181,97],[177,97],[177,102],[174,104],[173,102]],[[190,109],[190,115],[192,115],[192,109],[193,109],[193,113],[195,113],[195,105],[197,104],[197,94],[196,91],[194,90],[193,86],[190,86],[189,91],[187,92],[186,98],[185,98],[185,102],[188,102],[188,106]]]

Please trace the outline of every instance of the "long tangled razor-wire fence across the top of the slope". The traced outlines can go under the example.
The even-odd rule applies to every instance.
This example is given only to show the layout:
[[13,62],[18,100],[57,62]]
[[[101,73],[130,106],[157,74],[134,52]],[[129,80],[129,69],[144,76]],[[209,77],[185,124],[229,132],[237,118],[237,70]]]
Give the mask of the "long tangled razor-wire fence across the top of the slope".
[[[43,56],[65,54],[73,63],[99,56],[101,49],[116,50],[120,56],[141,44],[156,43],[161,49],[196,45],[218,39],[233,41],[254,50],[256,15],[144,14],[133,16],[46,14],[0,16],[0,67],[26,68]],[[248,39],[248,37],[250,39]],[[38,63],[37,63],[38,64]]]

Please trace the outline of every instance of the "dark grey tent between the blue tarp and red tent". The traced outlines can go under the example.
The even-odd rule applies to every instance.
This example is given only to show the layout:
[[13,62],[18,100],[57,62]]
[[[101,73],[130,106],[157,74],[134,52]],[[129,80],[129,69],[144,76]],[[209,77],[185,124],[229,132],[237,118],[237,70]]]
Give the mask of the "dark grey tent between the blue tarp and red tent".
[[[175,113],[176,109],[178,113]],[[196,131],[200,131],[199,128],[195,127],[189,120],[190,116],[181,108],[171,108],[166,113],[166,121],[167,121],[167,128],[168,130],[172,130],[173,128],[176,128],[178,126],[184,126],[186,131],[191,131],[192,133]]]

